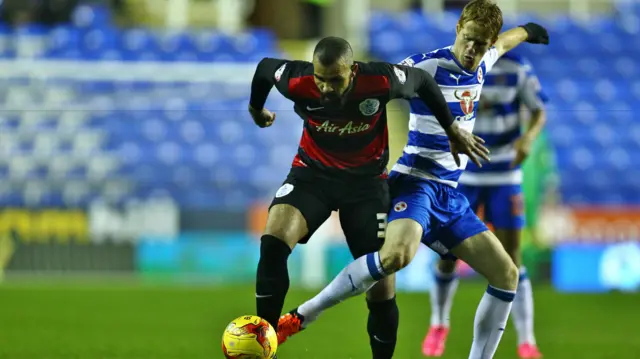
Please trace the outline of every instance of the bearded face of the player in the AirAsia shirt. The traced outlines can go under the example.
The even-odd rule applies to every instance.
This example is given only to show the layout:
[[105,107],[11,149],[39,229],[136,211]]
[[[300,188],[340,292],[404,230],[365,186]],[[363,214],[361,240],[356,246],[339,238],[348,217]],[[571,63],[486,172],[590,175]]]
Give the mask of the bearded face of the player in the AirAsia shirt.
[[313,62],[313,77],[320,90],[322,104],[330,107],[340,107],[343,104],[344,95],[355,74],[355,66],[350,66],[344,61],[331,66],[323,66],[318,61]]

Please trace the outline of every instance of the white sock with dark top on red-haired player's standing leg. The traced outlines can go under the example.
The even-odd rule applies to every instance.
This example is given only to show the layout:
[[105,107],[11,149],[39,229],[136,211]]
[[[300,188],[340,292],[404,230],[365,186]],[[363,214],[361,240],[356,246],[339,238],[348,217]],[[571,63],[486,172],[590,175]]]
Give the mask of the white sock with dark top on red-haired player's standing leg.
[[473,324],[473,344],[469,359],[491,359],[507,326],[516,292],[487,287]]

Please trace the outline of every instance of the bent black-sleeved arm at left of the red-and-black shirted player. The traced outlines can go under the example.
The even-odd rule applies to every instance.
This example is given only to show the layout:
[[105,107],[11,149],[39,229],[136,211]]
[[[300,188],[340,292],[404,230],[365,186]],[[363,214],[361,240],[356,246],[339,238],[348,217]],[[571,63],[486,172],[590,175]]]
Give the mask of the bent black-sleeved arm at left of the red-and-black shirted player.
[[279,69],[286,63],[286,60],[265,57],[258,63],[256,72],[253,74],[249,113],[256,125],[260,127],[269,127],[276,119],[276,115],[265,109],[264,104],[267,102],[269,92],[271,92],[271,88],[275,84]]

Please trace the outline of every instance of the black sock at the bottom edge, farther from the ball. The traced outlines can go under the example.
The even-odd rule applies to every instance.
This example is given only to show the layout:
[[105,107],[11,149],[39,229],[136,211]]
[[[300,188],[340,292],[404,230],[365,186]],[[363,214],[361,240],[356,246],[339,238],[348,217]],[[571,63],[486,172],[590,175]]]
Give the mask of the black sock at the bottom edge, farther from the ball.
[[383,302],[367,300],[369,307],[369,321],[367,331],[373,359],[391,359],[396,349],[400,311],[396,298]]

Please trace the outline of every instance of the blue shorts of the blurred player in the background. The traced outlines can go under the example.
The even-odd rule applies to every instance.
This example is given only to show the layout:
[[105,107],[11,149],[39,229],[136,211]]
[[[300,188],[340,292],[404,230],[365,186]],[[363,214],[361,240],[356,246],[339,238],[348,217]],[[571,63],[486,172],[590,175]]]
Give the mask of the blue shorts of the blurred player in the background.
[[522,229],[525,225],[524,202],[521,185],[465,186],[458,190],[467,199],[471,209],[478,212],[484,207],[484,220],[496,229]]

